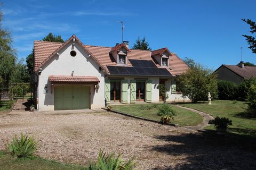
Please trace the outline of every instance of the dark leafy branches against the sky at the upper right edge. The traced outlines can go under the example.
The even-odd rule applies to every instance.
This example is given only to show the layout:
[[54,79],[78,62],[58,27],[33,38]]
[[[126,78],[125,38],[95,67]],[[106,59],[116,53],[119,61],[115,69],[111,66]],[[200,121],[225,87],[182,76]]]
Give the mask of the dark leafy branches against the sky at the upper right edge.
[[[251,33],[255,33],[256,32],[256,23],[253,22],[252,20],[250,19],[242,19],[244,22],[246,22],[247,24],[250,25],[250,28],[251,28]],[[247,43],[249,44],[249,47],[251,50],[252,50],[252,53],[256,53],[256,36],[253,37],[253,36],[247,36],[247,35],[243,35],[245,38],[246,38],[246,41]]]

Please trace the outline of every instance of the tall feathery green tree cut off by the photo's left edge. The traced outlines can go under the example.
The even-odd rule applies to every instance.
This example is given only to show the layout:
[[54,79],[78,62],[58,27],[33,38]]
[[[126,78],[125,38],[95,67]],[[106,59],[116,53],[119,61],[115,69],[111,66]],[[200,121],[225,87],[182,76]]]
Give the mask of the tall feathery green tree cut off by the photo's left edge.
[[17,57],[12,47],[11,32],[2,28],[2,19],[3,14],[0,12],[0,77],[2,77],[3,86],[8,88]]

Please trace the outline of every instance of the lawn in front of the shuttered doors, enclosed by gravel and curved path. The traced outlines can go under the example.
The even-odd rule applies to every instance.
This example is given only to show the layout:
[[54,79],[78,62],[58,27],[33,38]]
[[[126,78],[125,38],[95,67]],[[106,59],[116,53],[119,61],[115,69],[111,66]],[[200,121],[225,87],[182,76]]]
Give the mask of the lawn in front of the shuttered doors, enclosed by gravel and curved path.
[[[115,105],[113,109],[130,115],[160,121],[161,116],[157,115],[157,106],[156,104]],[[174,121],[171,123],[179,124],[180,126],[194,126],[203,121],[203,117],[197,113],[187,111],[175,105],[171,105],[171,107],[176,112]]]

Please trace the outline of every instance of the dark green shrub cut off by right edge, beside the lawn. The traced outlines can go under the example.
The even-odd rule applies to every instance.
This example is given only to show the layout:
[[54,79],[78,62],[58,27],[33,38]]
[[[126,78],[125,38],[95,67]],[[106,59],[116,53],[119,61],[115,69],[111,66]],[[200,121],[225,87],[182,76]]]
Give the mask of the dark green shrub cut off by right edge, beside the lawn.
[[249,94],[247,97],[248,108],[247,112],[249,116],[256,116],[256,84],[251,84]]

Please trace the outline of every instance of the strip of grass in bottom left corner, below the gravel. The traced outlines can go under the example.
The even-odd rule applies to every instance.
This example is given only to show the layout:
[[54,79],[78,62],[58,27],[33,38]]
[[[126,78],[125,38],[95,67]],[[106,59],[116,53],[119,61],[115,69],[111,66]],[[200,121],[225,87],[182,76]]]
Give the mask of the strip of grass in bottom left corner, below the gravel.
[[19,170],[29,170],[29,169],[84,169],[80,165],[74,164],[63,164],[54,162],[52,160],[46,160],[43,158],[13,158],[7,152],[0,151],[0,169],[19,169]]

